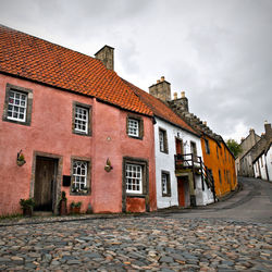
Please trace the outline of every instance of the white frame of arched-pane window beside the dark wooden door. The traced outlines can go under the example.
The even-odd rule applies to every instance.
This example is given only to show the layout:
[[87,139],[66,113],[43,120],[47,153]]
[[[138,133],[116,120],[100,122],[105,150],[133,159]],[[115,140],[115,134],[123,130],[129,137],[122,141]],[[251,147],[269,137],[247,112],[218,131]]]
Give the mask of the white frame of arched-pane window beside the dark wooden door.
[[[77,169],[79,168],[79,173],[77,173]],[[83,188],[87,188],[87,176],[88,176],[88,162],[73,160],[73,187],[81,191]],[[76,186],[76,185],[79,186]],[[83,186],[81,186],[83,185]]]

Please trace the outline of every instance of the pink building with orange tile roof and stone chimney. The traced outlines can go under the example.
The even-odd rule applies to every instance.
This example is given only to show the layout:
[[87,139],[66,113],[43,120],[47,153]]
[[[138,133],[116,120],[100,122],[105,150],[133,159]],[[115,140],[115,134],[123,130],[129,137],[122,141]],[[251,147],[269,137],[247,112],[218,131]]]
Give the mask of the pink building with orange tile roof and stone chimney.
[[[113,71],[113,48],[91,58],[0,26],[0,214],[154,210],[152,112]],[[17,153],[26,161],[17,165]]]

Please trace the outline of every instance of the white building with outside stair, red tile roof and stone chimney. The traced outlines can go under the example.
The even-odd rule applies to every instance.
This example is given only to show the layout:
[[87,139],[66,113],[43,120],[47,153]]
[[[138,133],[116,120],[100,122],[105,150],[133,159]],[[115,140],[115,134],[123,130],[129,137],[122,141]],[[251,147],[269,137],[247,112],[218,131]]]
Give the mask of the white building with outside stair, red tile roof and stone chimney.
[[[129,87],[154,114],[157,207],[162,209],[213,202],[212,190],[208,188],[200,168],[200,135],[168,107],[170,83],[162,77],[149,88],[151,95],[132,84]],[[176,154],[186,161],[178,162],[175,160]]]

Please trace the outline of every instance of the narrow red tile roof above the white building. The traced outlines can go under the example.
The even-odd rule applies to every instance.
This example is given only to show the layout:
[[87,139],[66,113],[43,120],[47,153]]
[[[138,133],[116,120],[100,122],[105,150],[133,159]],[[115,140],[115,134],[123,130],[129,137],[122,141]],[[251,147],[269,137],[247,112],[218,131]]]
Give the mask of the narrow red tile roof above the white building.
[[145,90],[136,87],[132,83],[123,79],[127,86],[135,91],[137,96],[139,96],[140,100],[147,104],[153,114],[164,121],[169,121],[178,127],[182,127],[188,132],[191,132],[196,135],[199,135],[196,131],[194,131],[187,123],[185,123],[177,114],[175,114],[165,103],[163,103],[160,99],[149,95]]

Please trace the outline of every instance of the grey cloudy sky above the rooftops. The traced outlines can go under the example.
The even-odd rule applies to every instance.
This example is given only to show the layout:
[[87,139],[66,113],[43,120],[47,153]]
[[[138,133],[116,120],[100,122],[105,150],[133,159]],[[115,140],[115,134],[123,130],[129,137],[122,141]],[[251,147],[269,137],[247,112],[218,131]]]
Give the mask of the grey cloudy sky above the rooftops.
[[225,139],[272,122],[271,0],[0,0],[0,24],[94,54],[140,88],[172,94]]

